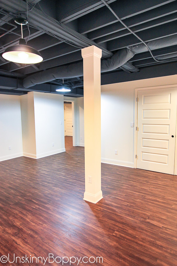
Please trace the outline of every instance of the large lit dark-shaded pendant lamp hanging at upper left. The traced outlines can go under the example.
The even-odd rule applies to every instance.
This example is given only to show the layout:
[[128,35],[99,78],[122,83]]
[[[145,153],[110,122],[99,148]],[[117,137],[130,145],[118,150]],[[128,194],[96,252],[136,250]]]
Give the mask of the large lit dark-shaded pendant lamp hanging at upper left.
[[[26,25],[28,23],[27,20],[21,17],[17,18],[15,22],[21,25],[21,31],[22,25]],[[43,60],[42,56],[36,49],[26,45],[25,39],[23,38],[23,31],[19,44],[6,48],[2,57],[8,61],[19,64],[36,64],[42,62]]]

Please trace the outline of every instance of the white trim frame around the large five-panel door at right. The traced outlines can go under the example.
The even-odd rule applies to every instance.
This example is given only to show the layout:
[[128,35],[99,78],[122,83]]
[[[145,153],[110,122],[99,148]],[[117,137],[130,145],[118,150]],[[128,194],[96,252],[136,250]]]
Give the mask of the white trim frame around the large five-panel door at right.
[[[137,108],[138,108],[138,101],[136,101],[138,97],[138,91],[140,90],[156,90],[156,89],[167,89],[167,88],[175,88],[177,87],[177,84],[171,84],[171,85],[162,85],[162,86],[153,86],[153,87],[142,87],[142,88],[135,88],[135,126],[134,126],[134,168],[137,168]],[[176,126],[176,135],[177,135],[177,126]],[[176,137],[176,145],[177,147],[177,137]],[[174,172],[176,170],[176,157],[177,157],[177,148],[175,149],[175,164],[174,164]]]

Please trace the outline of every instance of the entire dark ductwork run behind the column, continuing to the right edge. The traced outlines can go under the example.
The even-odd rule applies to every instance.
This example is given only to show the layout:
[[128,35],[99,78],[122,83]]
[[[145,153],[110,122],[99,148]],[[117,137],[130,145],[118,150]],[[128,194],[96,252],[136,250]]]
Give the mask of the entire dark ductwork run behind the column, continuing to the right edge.
[[[177,43],[176,35],[147,42],[151,50],[163,47],[169,47],[171,45],[175,45],[176,43]],[[135,46],[130,46],[129,48],[120,49],[111,58],[101,59],[101,72],[111,71],[117,69],[118,67],[121,67],[122,65],[124,65],[122,69],[126,67],[127,72],[137,72],[139,71],[139,69],[137,69],[134,66],[131,66],[130,64],[126,65],[125,63],[129,61],[134,56],[135,53],[143,53],[146,51],[148,51],[148,49],[143,43],[137,44]],[[176,53],[174,53],[173,56],[176,56]],[[171,55],[165,56],[165,58],[170,58],[170,57],[172,56]],[[161,58],[159,57],[159,59]],[[78,62],[67,66],[55,67],[53,69],[47,69],[45,71],[32,74],[24,78],[23,86],[25,88],[29,88],[36,84],[41,84],[56,79],[63,79],[63,78],[65,79],[65,78],[72,78],[79,76],[83,76],[83,62]]]

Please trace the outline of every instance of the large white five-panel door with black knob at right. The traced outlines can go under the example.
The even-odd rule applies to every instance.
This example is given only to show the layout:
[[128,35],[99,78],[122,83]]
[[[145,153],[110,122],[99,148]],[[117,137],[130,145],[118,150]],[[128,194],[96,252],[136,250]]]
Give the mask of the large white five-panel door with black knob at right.
[[177,88],[140,90],[137,168],[174,174]]

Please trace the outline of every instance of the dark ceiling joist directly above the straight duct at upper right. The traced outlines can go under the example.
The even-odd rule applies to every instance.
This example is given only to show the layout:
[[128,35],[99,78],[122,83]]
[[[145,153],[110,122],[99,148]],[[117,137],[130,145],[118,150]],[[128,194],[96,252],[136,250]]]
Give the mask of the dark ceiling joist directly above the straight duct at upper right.
[[[145,42],[160,39],[166,36],[175,35],[176,21],[169,22],[160,26],[152,27],[138,33],[138,36]],[[107,42],[107,47],[110,51],[114,51],[127,46],[132,46],[141,43],[141,41],[133,34],[120,37]]]

